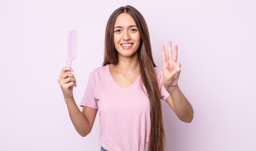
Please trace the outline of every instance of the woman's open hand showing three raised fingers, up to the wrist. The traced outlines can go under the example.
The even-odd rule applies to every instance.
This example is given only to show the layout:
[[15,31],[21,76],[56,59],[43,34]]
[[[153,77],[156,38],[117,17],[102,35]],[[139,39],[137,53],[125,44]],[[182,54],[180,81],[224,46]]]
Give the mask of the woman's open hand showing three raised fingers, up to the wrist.
[[178,86],[181,69],[180,62],[177,62],[178,46],[175,44],[173,52],[171,41],[168,41],[168,59],[163,44],[161,46],[161,50],[163,58],[163,85],[168,91],[168,89],[172,89]]

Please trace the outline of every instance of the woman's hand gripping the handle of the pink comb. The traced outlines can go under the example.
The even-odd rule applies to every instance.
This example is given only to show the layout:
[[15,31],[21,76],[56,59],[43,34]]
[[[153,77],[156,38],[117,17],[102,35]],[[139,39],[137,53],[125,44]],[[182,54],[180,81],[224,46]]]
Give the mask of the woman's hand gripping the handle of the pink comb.
[[74,71],[70,67],[64,67],[61,70],[61,75],[58,78],[58,83],[61,86],[61,90],[64,96],[64,99],[69,99],[73,97],[73,88],[76,87],[76,79],[74,74],[67,72],[67,71]]

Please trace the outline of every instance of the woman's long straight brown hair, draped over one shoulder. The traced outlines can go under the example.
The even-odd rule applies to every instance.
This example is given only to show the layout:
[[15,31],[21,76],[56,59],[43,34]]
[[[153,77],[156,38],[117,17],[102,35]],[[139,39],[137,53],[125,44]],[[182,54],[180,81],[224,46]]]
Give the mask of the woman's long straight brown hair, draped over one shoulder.
[[105,56],[103,66],[106,64],[117,64],[117,51],[114,47],[114,25],[116,18],[121,13],[128,13],[135,20],[141,37],[139,52],[139,65],[141,79],[146,88],[150,101],[151,127],[148,142],[150,151],[164,151],[165,136],[162,117],[162,105],[160,102],[160,90],[155,74],[156,67],[152,56],[148,27],[141,13],[131,6],[120,7],[115,10],[108,20],[105,35]]

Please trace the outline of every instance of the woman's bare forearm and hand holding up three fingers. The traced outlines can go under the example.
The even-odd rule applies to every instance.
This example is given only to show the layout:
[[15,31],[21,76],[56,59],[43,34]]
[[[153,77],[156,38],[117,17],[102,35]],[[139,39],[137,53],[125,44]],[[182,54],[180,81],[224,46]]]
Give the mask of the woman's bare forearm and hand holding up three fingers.
[[170,94],[170,96],[166,98],[166,102],[180,120],[191,122],[194,114],[193,107],[178,86],[181,64],[180,62],[177,62],[177,45],[174,46],[174,52],[172,52],[171,41],[168,41],[168,59],[164,45],[161,46],[161,50],[163,58],[163,85],[166,91]]

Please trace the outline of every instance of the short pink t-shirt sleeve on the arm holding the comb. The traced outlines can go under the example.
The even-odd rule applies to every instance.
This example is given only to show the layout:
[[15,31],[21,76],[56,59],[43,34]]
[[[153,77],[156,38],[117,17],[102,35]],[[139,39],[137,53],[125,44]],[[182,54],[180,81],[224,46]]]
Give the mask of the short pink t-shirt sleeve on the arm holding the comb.
[[94,94],[95,94],[94,86],[95,86],[95,78],[92,72],[89,75],[85,93],[80,103],[81,107],[86,106],[86,107],[91,107],[93,109],[98,109],[97,100],[95,100],[95,97],[94,97]]

